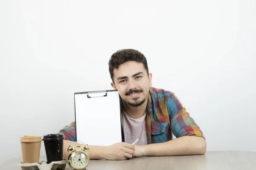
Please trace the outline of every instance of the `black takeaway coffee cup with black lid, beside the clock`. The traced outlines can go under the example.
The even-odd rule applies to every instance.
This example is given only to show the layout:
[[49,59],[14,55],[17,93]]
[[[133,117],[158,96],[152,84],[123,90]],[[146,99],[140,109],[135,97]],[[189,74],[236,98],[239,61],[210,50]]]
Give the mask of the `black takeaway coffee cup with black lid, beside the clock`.
[[48,134],[44,135],[44,148],[47,157],[47,164],[52,161],[63,160],[63,134]]

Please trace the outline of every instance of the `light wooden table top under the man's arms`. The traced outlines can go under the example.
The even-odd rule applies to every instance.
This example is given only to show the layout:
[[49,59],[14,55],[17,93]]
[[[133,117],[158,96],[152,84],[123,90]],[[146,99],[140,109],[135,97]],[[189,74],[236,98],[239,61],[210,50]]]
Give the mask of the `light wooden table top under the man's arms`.
[[[41,156],[41,160],[46,160]],[[22,158],[0,165],[0,170],[21,170]],[[256,170],[256,152],[207,151],[196,156],[140,157],[122,161],[90,160],[88,170]],[[65,170],[72,170],[66,165]]]

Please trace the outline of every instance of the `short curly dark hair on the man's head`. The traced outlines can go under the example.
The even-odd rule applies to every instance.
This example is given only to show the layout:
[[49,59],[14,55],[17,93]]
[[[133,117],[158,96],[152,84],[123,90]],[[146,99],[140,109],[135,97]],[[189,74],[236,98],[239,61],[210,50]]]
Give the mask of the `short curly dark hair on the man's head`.
[[112,81],[113,80],[113,70],[114,68],[119,68],[119,65],[128,62],[128,61],[136,61],[136,62],[142,62],[144,65],[145,70],[148,74],[148,63],[146,57],[139,51],[134,49],[122,49],[116,51],[114,54],[112,54],[108,66],[109,66],[109,73],[111,76]]

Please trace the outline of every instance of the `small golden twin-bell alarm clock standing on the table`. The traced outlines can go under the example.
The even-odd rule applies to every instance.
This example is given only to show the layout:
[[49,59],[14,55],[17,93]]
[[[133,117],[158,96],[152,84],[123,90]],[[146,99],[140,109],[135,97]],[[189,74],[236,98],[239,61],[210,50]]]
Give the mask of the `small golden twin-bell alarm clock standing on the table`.
[[88,145],[82,142],[83,145],[81,146],[81,148],[76,149],[73,143],[67,148],[68,152],[71,151],[71,153],[68,156],[69,166],[73,168],[73,170],[87,170],[87,166],[89,165],[90,161],[90,156],[87,153],[87,151],[89,151]]

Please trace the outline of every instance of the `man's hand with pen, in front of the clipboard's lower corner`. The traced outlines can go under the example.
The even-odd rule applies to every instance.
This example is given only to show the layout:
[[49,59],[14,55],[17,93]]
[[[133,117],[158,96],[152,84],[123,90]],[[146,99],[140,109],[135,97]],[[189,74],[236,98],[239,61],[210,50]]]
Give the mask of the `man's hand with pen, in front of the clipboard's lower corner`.
[[134,156],[135,147],[132,144],[119,142],[106,147],[105,159],[124,160]]

